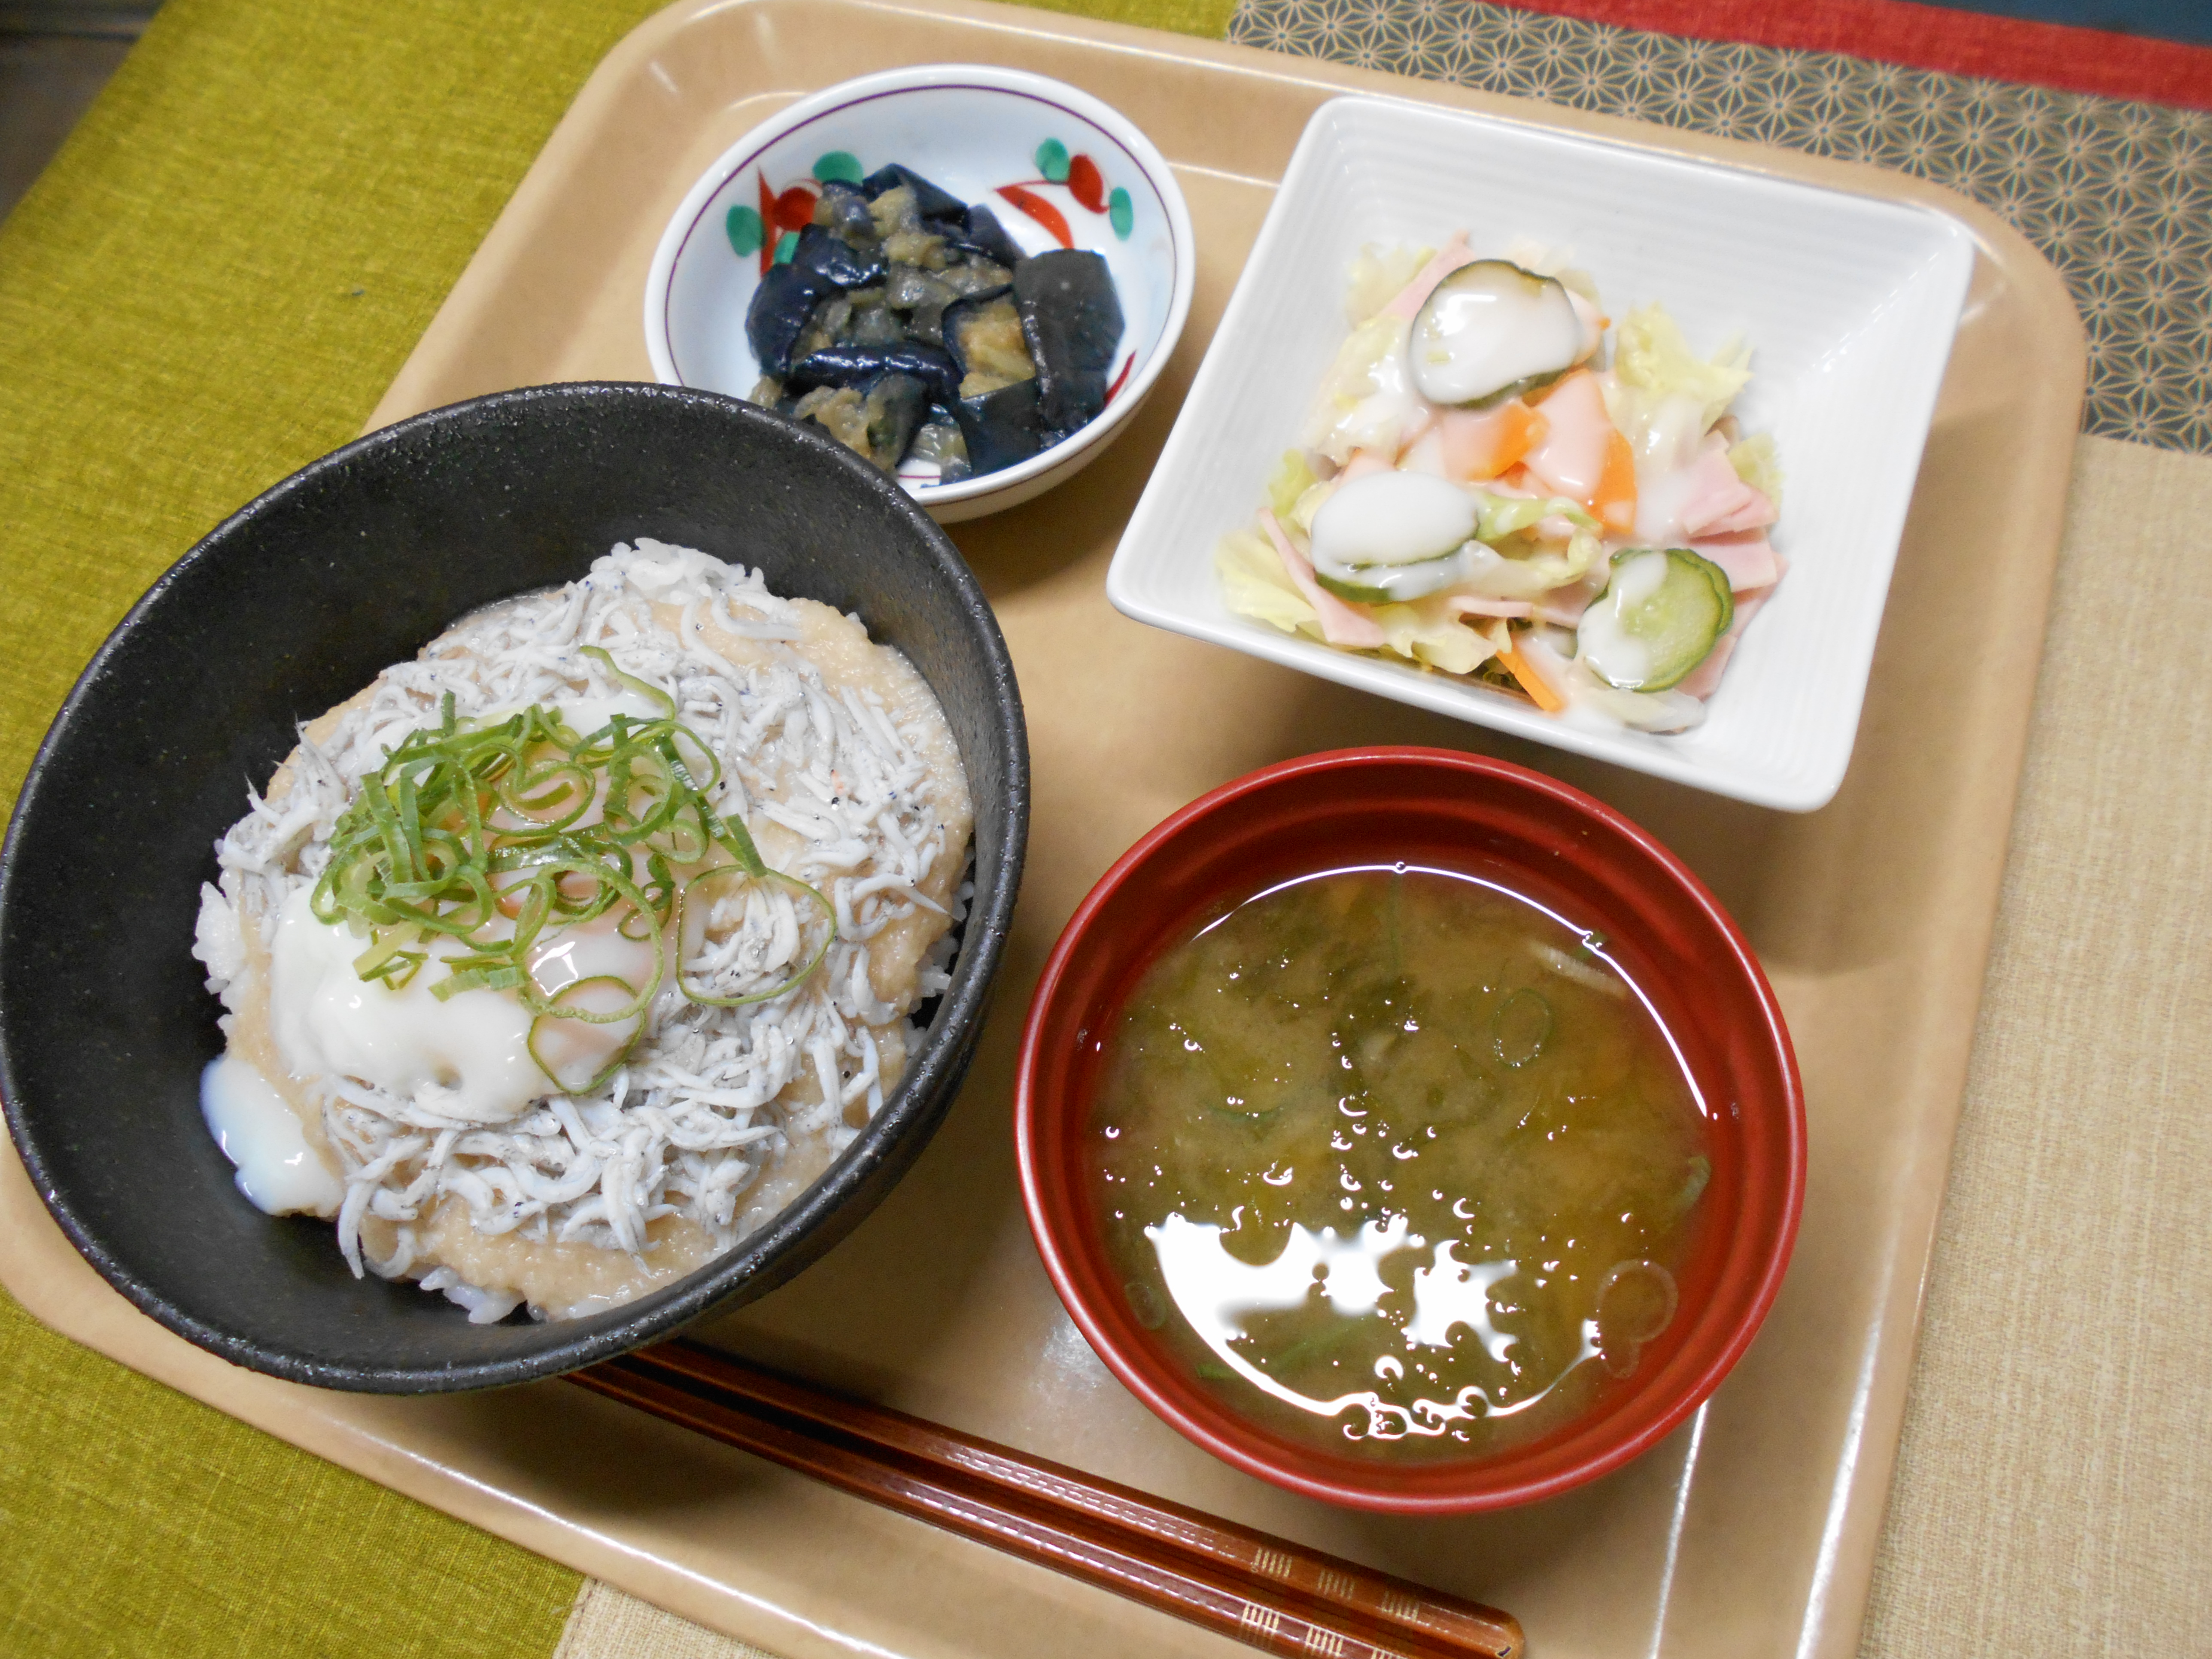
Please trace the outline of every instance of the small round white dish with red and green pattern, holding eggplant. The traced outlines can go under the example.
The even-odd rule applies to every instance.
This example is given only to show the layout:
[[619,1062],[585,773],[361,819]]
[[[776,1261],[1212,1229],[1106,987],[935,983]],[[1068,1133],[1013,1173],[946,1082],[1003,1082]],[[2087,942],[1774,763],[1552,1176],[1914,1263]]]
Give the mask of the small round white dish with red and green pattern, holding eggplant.
[[684,197],[646,279],[653,372],[668,385],[748,396],[761,378],[745,314],[790,259],[830,179],[900,164],[987,204],[1024,254],[1106,259],[1124,332],[1104,414],[1002,471],[905,478],[940,524],[1026,502],[1110,445],[1159,380],[1197,281],[1190,210],[1175,175],[1124,115],[1075,86],[987,64],[918,64],[803,97],[732,144]]

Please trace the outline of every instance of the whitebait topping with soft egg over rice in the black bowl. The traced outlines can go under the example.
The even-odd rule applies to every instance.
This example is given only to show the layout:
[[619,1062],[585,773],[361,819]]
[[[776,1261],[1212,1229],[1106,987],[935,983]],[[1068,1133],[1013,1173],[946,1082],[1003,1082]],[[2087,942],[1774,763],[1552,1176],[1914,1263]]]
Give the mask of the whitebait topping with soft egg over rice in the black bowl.
[[[887,699],[865,675],[825,675],[807,655],[814,635],[825,659],[883,650],[823,606],[774,597],[759,573],[655,542],[617,546],[582,582],[478,613],[385,670],[316,741],[303,732],[270,794],[217,843],[221,885],[201,894],[195,953],[230,1009],[232,1060],[288,1091],[321,1144],[356,1272],[420,1276],[471,1318],[504,1316],[513,1290],[438,1259],[434,1234],[453,1217],[484,1241],[591,1245],[639,1263],[666,1261],[657,1223],[668,1219],[692,1230],[688,1265],[699,1265],[741,1237],[763,1170],[796,1146],[827,1159],[883,1106],[914,1006],[949,984],[967,785],[942,714],[905,664]],[[555,872],[566,898],[549,900],[555,916],[540,918],[549,925],[529,951],[509,949],[529,905],[507,898],[524,920],[498,914],[529,878],[513,867],[491,876],[484,916],[467,902],[445,911],[480,922],[473,933],[376,922],[383,900],[334,876],[334,843],[345,845],[365,787],[396,776],[392,757],[409,743],[504,730],[529,710],[540,721],[557,710],[575,750],[602,761],[595,803],[568,812],[575,799],[555,801],[540,776],[511,796],[526,812],[491,807],[502,834],[637,830],[670,770],[639,759],[624,812],[608,807],[604,759],[655,719],[697,743],[675,739],[668,752],[697,787],[692,821],[706,834],[661,834],[659,865],[637,838],[630,872],[602,854],[608,891],[624,891],[597,911],[588,872]],[[487,783],[480,799],[493,796]],[[763,878],[734,854],[754,836]],[[451,849],[422,854],[431,841],[418,836],[414,876],[449,874],[438,860]],[[498,845],[489,856],[520,858]],[[420,894],[405,858],[385,860],[398,872],[392,902]],[[288,929],[305,951],[285,945]],[[902,984],[872,975],[883,949]],[[316,964],[312,984],[272,982],[272,964],[301,960]],[[303,1006],[316,998],[321,1009]],[[473,1035],[407,1013],[471,1002],[491,1015]],[[637,1287],[613,1298],[626,1294]],[[586,1310],[555,1298],[533,1312]]]

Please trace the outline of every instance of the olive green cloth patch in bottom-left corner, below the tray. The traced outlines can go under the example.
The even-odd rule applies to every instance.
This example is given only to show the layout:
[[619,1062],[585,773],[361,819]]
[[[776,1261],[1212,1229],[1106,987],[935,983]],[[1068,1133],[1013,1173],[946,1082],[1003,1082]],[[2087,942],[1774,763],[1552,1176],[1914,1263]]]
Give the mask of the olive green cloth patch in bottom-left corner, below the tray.
[[0,1655],[542,1659],[575,1584],[0,1294]]

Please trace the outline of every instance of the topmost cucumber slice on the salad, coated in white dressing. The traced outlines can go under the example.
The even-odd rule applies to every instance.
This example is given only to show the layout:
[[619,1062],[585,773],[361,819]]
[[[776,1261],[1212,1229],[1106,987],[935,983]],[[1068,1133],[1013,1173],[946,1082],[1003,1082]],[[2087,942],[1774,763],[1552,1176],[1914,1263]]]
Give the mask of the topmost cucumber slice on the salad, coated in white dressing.
[[1504,259],[1460,265],[1413,316],[1407,367],[1431,403],[1489,405],[1551,385],[1584,352],[1566,285]]

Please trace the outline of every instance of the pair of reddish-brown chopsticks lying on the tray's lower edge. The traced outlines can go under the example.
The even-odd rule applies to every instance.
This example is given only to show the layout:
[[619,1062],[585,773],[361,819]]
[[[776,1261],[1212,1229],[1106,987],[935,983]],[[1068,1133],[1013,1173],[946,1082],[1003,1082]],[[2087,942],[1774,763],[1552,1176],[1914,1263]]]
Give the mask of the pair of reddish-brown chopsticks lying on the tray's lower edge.
[[1522,1659],[1520,1621],[690,1343],[573,1383],[1276,1655]]

